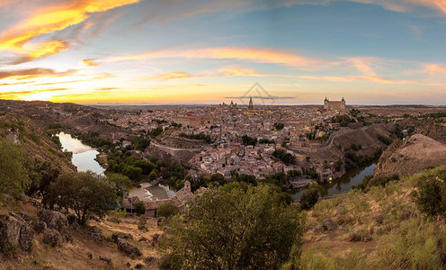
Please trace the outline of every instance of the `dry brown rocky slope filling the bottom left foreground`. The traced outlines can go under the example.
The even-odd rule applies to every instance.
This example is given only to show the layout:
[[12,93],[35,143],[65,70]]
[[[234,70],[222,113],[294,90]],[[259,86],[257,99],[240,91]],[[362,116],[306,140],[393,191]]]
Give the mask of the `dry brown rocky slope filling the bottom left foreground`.
[[[2,220],[8,212],[24,212],[24,215],[31,216],[31,220],[38,220],[39,210],[39,202],[29,197],[17,202],[4,197],[0,202],[0,233],[4,233]],[[18,247],[3,250],[0,256],[0,266],[2,266],[0,268],[129,269],[139,264],[143,269],[158,269],[156,259],[158,243],[154,235],[162,235],[163,229],[157,226],[156,219],[148,218],[144,230],[138,229],[137,216],[121,217],[118,220],[120,223],[91,220],[87,227],[65,226],[59,229],[63,239],[56,247],[44,243],[44,231],[35,231],[31,241],[31,251],[21,251]],[[130,256],[121,252],[114,243],[113,233],[123,233],[126,238],[131,235],[131,238],[126,240],[138,247],[142,255]]]

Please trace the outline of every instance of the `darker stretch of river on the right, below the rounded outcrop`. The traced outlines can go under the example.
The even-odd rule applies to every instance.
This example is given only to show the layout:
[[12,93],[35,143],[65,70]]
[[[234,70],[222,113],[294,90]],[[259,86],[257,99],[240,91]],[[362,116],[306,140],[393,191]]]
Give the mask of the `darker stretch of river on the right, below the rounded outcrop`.
[[[376,163],[370,166],[360,166],[349,170],[345,175],[329,183],[320,184],[322,190],[319,191],[321,197],[330,197],[339,193],[346,193],[352,189],[355,184],[360,184],[366,175],[373,175]],[[300,195],[305,191],[305,187],[297,189],[292,197],[299,201]]]

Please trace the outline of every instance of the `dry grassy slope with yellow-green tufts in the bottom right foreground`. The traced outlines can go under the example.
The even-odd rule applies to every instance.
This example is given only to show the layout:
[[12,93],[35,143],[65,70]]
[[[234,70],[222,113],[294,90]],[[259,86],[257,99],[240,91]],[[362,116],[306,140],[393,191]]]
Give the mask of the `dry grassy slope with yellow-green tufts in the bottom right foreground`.
[[[424,175],[444,172],[437,167],[368,193],[352,190],[317,202],[308,212],[302,269],[444,269],[445,222],[426,219],[412,195]],[[339,228],[313,232],[325,219]]]

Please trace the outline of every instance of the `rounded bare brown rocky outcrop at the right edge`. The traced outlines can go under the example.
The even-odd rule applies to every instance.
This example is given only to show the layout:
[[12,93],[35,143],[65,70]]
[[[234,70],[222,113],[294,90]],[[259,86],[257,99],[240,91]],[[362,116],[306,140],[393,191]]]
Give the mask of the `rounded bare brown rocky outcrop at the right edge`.
[[409,139],[392,143],[375,168],[374,177],[414,175],[429,166],[446,165],[446,145],[415,134]]

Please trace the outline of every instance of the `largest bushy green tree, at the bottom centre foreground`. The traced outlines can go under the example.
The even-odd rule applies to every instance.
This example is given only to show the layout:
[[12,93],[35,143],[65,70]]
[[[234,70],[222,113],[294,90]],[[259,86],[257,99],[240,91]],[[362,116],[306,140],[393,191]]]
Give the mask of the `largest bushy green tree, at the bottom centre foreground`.
[[167,240],[162,264],[171,269],[277,269],[299,257],[302,216],[272,185],[210,189],[186,220],[174,222]]

